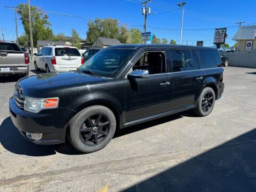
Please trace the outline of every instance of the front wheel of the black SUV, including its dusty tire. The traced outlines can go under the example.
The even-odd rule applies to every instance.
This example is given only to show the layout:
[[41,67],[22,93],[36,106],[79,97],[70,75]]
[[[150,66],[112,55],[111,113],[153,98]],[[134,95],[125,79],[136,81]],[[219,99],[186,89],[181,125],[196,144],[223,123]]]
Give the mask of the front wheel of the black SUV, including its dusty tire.
[[79,111],[68,124],[68,140],[82,153],[104,148],[116,131],[116,118],[105,106],[90,106]]

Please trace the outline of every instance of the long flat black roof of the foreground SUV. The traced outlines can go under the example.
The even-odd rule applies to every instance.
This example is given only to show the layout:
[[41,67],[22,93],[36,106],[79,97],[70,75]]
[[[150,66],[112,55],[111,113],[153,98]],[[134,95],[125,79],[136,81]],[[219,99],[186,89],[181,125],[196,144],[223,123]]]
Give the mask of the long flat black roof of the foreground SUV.
[[204,46],[190,46],[190,45],[168,45],[168,44],[125,44],[125,45],[114,45],[105,49],[207,49],[217,50],[213,47]]

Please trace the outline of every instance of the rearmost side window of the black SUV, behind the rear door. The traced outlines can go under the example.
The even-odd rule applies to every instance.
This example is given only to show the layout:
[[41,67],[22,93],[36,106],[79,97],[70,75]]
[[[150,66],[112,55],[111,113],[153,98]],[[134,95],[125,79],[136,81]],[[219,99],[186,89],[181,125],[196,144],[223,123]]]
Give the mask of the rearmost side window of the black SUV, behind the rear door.
[[218,50],[199,50],[202,68],[221,67],[220,54]]

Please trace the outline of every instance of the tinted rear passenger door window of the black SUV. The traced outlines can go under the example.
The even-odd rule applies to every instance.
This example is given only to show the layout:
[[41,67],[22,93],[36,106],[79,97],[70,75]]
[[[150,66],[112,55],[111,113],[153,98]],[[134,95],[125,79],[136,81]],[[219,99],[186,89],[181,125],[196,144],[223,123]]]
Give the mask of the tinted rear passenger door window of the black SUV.
[[171,54],[173,72],[199,69],[196,51],[173,50]]

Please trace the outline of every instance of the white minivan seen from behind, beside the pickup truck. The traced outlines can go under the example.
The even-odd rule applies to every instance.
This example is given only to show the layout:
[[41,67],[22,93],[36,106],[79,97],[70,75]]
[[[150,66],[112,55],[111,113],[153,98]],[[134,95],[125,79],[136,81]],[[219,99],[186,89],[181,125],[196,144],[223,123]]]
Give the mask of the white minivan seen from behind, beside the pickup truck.
[[46,73],[76,70],[83,64],[83,57],[73,46],[44,46],[35,58],[35,70]]

